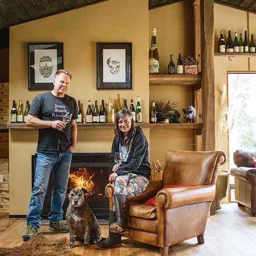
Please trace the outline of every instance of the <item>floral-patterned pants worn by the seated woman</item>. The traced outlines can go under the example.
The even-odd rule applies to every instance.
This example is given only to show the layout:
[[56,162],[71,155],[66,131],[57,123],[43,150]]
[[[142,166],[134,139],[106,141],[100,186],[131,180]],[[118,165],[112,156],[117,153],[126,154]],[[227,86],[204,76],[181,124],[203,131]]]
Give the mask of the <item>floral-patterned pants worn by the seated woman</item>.
[[118,176],[115,180],[114,194],[126,194],[127,199],[142,194],[147,189],[150,181],[141,175],[129,173],[127,175]]

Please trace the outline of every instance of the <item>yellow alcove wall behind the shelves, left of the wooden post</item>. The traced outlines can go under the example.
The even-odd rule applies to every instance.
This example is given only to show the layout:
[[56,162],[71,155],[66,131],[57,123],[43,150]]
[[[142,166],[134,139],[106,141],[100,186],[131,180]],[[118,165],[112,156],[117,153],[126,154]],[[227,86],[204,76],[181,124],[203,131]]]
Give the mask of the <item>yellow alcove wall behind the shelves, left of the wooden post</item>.
[[[151,29],[157,29],[157,45],[160,59],[160,73],[168,74],[170,54],[173,55],[175,67],[177,56],[191,56],[191,3],[184,1],[150,10]],[[150,45],[149,45],[150,47]],[[192,87],[180,86],[150,86],[150,101],[175,101],[179,106],[182,122],[187,122],[182,109],[192,102]],[[165,162],[167,150],[192,150],[193,130],[151,130],[150,131],[150,159]]]

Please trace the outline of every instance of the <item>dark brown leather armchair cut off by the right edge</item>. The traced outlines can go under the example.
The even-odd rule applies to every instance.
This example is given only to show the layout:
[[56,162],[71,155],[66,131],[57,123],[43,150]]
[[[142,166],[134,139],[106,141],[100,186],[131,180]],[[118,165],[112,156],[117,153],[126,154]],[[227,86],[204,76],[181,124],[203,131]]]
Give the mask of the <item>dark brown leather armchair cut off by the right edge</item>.
[[234,195],[239,206],[251,210],[256,216],[256,168],[253,157],[256,157],[255,148],[238,149],[234,152],[234,163],[237,167],[230,170],[234,176]]

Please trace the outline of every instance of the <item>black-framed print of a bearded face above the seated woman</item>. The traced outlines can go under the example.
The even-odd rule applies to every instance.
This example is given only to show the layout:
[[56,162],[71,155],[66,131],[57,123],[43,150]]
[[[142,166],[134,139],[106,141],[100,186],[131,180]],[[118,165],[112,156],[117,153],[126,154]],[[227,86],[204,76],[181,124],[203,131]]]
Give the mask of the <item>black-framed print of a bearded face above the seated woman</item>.
[[97,90],[131,90],[131,42],[97,42]]

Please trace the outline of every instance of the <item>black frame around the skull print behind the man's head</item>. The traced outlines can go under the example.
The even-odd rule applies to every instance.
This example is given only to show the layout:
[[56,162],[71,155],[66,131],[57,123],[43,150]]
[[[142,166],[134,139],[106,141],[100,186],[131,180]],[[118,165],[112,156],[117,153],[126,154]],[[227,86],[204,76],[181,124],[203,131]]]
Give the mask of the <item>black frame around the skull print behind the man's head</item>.
[[[51,78],[54,77],[56,70],[63,69],[63,42],[43,42],[43,43],[29,43],[28,44],[28,55],[29,55],[29,90],[52,90],[54,88],[51,81],[47,82],[36,82],[35,81],[35,50],[45,50],[49,49],[56,50],[56,60],[53,63],[53,72]],[[49,79],[48,79],[49,80]]]

